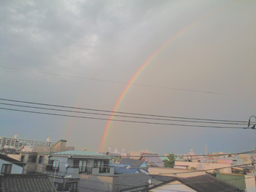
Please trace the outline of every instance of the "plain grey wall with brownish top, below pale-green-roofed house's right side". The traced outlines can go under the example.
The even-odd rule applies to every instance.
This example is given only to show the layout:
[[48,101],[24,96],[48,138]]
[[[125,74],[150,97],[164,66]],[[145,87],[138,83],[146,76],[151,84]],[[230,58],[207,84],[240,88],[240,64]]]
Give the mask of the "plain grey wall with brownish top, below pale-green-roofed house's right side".
[[113,177],[88,175],[81,173],[78,183],[78,191],[112,191]]

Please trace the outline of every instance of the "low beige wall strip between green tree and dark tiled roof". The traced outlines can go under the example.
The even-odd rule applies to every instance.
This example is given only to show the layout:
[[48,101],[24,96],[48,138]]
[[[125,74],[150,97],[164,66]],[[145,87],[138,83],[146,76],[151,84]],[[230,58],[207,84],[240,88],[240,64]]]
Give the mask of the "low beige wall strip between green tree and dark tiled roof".
[[[188,173],[190,172],[190,173]],[[194,171],[194,170],[184,170],[175,168],[149,168],[150,175],[165,175],[179,178],[188,178],[192,176],[205,175],[206,171]]]

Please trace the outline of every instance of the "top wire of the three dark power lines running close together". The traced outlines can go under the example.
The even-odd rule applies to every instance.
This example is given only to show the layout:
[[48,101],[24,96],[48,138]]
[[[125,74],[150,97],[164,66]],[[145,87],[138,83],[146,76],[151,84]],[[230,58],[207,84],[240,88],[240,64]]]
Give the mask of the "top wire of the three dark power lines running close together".
[[62,105],[54,105],[54,104],[42,104],[30,101],[19,101],[13,99],[3,99],[0,98],[2,101],[12,101],[12,102],[19,102],[25,104],[37,104],[37,105],[44,105],[44,106],[56,106],[61,108],[70,108],[70,109],[82,109],[88,111],[103,111],[115,114],[133,114],[133,115],[140,115],[140,116],[155,116],[155,117],[166,117],[166,118],[173,118],[173,119],[191,119],[191,120],[202,120],[202,121],[213,121],[213,122],[238,122],[238,123],[247,123],[244,121],[231,121],[231,120],[221,120],[221,119],[201,119],[201,118],[190,118],[190,117],[180,117],[180,116],[163,116],[163,115],[155,115],[155,114],[139,114],[139,113],[129,113],[129,112],[122,112],[122,111],[109,111],[109,110],[101,110],[101,109],[90,109],[90,108],[81,108],[81,107],[73,107],[73,106],[62,106]]

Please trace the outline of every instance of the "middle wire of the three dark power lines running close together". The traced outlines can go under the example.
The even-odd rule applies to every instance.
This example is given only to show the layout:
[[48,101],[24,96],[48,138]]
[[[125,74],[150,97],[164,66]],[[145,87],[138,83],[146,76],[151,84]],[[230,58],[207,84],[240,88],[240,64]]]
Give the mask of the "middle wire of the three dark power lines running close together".
[[[9,106],[21,106],[21,107],[27,107],[27,108],[33,108],[33,109],[45,109],[45,110],[52,110],[52,111],[65,111],[65,112],[80,113],[80,114],[96,114],[96,115],[109,116],[109,114],[100,114],[100,113],[92,113],[92,112],[85,112],[85,111],[71,111],[71,110],[63,110],[63,109],[52,109],[52,108],[45,108],[45,107],[38,107],[38,106],[24,106],[24,105],[5,104],[5,103],[0,103],[0,104],[9,105]],[[136,119],[151,119],[151,120],[160,120],[160,121],[172,121],[172,122],[193,122],[193,123],[206,123],[206,124],[237,124],[237,125],[245,124],[245,123],[232,123],[232,122],[198,122],[198,121],[187,121],[187,120],[178,120],[178,119],[160,119],[160,118],[151,118],[151,117],[144,117],[144,116],[124,116],[124,115],[116,115],[116,114],[113,114],[111,116],[136,118]]]

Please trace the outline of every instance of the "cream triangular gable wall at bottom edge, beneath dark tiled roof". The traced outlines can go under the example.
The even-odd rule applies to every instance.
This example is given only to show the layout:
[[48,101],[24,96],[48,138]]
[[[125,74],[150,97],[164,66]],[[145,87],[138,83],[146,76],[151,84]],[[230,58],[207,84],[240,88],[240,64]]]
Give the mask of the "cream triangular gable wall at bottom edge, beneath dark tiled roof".
[[157,188],[151,189],[149,192],[168,192],[168,191],[173,191],[173,192],[180,192],[180,191],[188,191],[188,192],[194,192],[192,188],[189,188],[186,185],[183,185],[180,183],[178,180],[173,181],[172,183],[168,183],[164,186],[159,186]]

